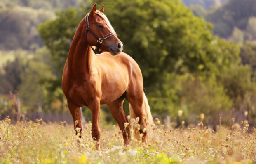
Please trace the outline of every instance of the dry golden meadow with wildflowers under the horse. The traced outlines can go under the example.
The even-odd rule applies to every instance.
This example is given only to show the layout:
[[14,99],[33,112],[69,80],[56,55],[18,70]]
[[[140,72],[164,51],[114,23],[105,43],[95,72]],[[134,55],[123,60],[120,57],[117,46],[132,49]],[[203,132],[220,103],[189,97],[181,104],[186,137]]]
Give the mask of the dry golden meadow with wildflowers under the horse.
[[[102,125],[104,128],[104,125]],[[156,124],[150,144],[132,140],[124,148],[117,125],[101,129],[101,154],[95,151],[91,124],[82,139],[73,125],[38,120],[12,125],[0,122],[1,164],[255,164],[256,129],[248,125],[223,126],[217,132],[204,125],[195,128],[164,128]],[[251,130],[249,133],[247,131]]]

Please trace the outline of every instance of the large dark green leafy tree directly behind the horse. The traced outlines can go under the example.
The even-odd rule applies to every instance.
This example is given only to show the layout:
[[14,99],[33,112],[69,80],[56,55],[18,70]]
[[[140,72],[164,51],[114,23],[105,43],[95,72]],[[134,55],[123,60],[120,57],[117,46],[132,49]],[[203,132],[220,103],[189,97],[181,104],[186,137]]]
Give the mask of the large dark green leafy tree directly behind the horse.
[[[201,92],[208,97],[214,94],[212,102],[221,102],[218,97],[223,98],[221,104],[225,104],[228,99],[221,96],[222,84],[214,80],[225,68],[239,63],[239,47],[214,36],[210,23],[194,16],[179,0],[116,0],[115,3],[100,0],[98,6],[102,5],[105,5],[104,13],[124,43],[124,52],[131,55],[142,70],[144,87],[154,112],[171,113],[180,105],[183,96],[172,89],[175,86],[172,81],[178,78],[175,74],[195,73],[202,83]],[[55,20],[38,27],[57,68],[58,78],[52,80],[52,92],[60,89],[73,35],[91,7],[82,6],[78,11],[70,7],[59,12]],[[211,91],[206,87],[208,77],[211,77]],[[221,86],[212,91],[217,85]],[[218,109],[222,107],[220,105]],[[227,104],[225,109],[228,107]]]

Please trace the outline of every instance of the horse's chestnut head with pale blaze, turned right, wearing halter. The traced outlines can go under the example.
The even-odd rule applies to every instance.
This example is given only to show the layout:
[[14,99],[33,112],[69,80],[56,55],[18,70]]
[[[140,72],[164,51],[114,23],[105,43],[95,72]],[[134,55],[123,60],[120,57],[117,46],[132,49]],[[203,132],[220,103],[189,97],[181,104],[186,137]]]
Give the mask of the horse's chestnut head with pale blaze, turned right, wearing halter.
[[96,5],[92,7],[92,11],[85,17],[85,40],[91,46],[96,46],[105,51],[109,51],[111,55],[117,55],[123,50],[122,42],[117,38],[116,33],[103,14],[104,6],[98,11]]

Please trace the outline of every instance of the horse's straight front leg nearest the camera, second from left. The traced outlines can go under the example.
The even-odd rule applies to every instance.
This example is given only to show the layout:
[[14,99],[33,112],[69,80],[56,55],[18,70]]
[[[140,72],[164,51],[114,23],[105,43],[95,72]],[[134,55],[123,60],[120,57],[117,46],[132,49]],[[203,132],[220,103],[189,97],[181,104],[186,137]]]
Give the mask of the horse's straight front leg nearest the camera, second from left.
[[101,132],[100,132],[100,101],[95,100],[89,106],[92,112],[92,139],[96,142],[96,150],[100,149],[100,139],[101,139]]

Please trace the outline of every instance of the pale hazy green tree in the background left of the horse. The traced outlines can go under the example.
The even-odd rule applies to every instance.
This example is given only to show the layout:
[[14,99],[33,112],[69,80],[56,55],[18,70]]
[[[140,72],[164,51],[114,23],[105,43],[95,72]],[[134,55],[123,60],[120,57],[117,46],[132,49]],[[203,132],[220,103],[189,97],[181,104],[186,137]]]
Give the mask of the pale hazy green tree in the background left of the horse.
[[44,78],[54,78],[52,69],[47,64],[49,52],[38,49],[33,58],[26,59],[24,71],[21,72],[21,84],[19,85],[19,97],[25,105],[47,104],[47,85],[40,83]]

